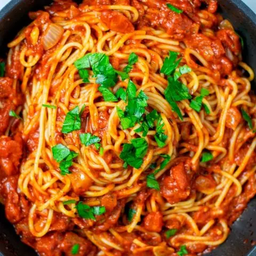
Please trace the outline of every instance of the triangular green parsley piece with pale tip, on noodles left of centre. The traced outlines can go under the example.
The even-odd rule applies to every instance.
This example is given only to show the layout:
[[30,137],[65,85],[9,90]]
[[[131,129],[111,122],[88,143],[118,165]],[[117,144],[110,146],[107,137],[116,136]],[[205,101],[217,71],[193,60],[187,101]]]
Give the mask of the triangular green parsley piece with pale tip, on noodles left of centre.
[[65,121],[63,123],[61,132],[69,133],[69,132],[73,132],[76,130],[80,130],[81,129],[81,118],[80,118],[81,114],[82,114],[81,112],[79,113],[78,106],[76,106],[75,108],[70,110],[65,117]]

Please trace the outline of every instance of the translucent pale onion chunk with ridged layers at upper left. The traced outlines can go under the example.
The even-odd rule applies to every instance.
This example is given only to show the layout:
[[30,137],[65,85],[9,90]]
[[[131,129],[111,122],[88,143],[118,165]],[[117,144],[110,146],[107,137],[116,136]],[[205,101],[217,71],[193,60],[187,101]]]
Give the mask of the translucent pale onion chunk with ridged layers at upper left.
[[56,45],[60,41],[60,38],[63,35],[63,33],[64,29],[61,26],[51,23],[47,27],[45,34],[42,38],[44,50],[47,51],[51,49],[54,45]]

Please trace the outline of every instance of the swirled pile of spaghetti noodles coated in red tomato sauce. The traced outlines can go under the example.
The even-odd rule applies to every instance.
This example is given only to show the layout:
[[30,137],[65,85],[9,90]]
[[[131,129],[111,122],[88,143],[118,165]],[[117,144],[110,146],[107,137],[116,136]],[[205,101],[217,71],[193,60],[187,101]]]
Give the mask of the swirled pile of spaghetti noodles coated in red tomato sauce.
[[[66,5],[63,10],[54,9],[54,5],[47,7],[50,15],[42,11],[33,14],[35,20],[8,45],[7,68],[20,65],[22,69],[22,75],[13,82],[13,87],[20,86],[24,95],[23,106],[17,109],[17,113],[23,116],[23,125],[19,129],[25,137],[36,139],[35,134],[38,134],[38,144],[23,158],[18,181],[21,193],[31,203],[28,217],[30,233],[35,237],[45,236],[51,230],[55,213],[76,218],[75,205],[78,201],[91,207],[100,206],[102,196],[110,194],[116,196],[119,214],[121,212],[118,223],[97,232],[93,228],[94,221],[88,220],[87,228],[79,226],[81,230],[78,231],[97,245],[101,251],[98,255],[128,255],[125,254],[126,239],[132,239],[130,250],[137,255],[143,252],[146,253],[143,255],[151,255],[151,252],[171,255],[181,245],[190,252],[198,252],[206,248],[211,250],[223,243],[229,233],[228,223],[237,218],[231,208],[229,212],[233,211],[235,218],[231,218],[229,213],[223,215],[232,198],[238,204],[237,198],[244,198],[245,190],[250,190],[247,184],[254,186],[251,189],[255,193],[256,165],[252,158],[256,138],[253,129],[239,113],[236,127],[227,126],[229,119],[233,118],[230,115],[234,109],[243,108],[248,115],[255,116],[255,97],[250,93],[253,71],[239,61],[238,65],[249,73],[249,77],[242,75],[237,66],[225,78],[220,78],[220,73],[212,70],[211,63],[202,54],[186,46],[183,38],[173,39],[161,27],[144,26],[122,34],[109,29],[100,19],[104,10],[111,10],[136,23],[140,14],[134,6],[82,4],[78,9],[69,1]],[[149,13],[150,9],[146,16]],[[203,10],[198,15],[204,24],[213,14]],[[42,27],[50,23],[61,31],[58,44],[47,51],[36,51],[36,45],[41,42]],[[207,26],[201,33],[209,37],[215,35],[215,31]],[[190,107],[189,99],[177,101],[183,120],[172,110],[164,95],[167,77],[160,72],[169,51],[178,52],[179,58],[182,57],[179,67],[186,64],[191,68],[180,76],[179,81],[187,86],[192,98],[198,97],[201,89],[209,91],[202,102],[210,114],[206,114],[203,108],[199,113],[195,111]],[[88,53],[106,54],[115,69],[120,71],[127,66],[131,53],[138,55],[138,61],[129,73],[130,78],[122,81],[119,77],[110,90],[113,94],[120,88],[126,90],[131,79],[137,95],[141,91],[147,95],[146,114],[155,109],[164,123],[167,135],[164,147],[159,147],[154,139],[155,127],[145,137],[142,132],[135,131],[140,123],[128,129],[122,128],[117,107],[125,110],[127,102],[103,100],[97,78],[93,77],[91,70],[89,82],[83,82],[74,62]],[[65,117],[77,106],[79,110],[85,108],[81,116],[82,128],[63,134],[61,129]],[[81,132],[100,137],[103,154],[99,154],[94,145],[82,145],[79,140]],[[148,143],[142,165],[139,169],[130,165],[123,167],[124,161],[119,156],[124,143],[140,137]],[[70,174],[61,175],[59,163],[53,158],[52,148],[58,144],[77,153],[69,169]],[[213,159],[202,163],[205,151],[212,154]],[[243,152],[241,157],[239,151]],[[190,195],[185,199],[181,197],[175,203],[167,202],[162,194],[163,183],[161,190],[147,187],[147,175],[153,173],[149,166],[156,163],[155,170],[159,169],[164,160],[161,154],[169,155],[171,161],[155,175],[158,182],[164,182],[164,177],[170,175],[170,168],[173,170],[179,163],[185,163],[187,174],[193,177]],[[204,188],[200,189],[196,177],[200,175],[202,178],[206,172],[208,174],[202,181],[205,185],[201,184]],[[215,184],[213,187],[209,187],[209,180]],[[72,203],[63,204],[66,201]],[[131,222],[127,221],[124,212],[127,205],[134,210]],[[149,231],[141,222],[154,212],[163,214],[160,232]],[[101,219],[100,223],[104,225],[109,216],[107,214],[107,219]],[[167,239],[165,231],[170,227],[178,231]]]

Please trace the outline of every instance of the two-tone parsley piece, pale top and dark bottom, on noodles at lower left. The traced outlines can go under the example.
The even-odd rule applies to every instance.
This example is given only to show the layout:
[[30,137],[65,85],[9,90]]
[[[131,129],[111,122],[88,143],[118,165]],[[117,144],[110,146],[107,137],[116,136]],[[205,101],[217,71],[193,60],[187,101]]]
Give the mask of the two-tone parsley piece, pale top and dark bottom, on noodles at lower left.
[[69,148],[62,144],[57,144],[52,147],[53,159],[60,163],[60,174],[69,174],[69,167],[72,165],[72,160],[78,156],[74,151],[70,151]]

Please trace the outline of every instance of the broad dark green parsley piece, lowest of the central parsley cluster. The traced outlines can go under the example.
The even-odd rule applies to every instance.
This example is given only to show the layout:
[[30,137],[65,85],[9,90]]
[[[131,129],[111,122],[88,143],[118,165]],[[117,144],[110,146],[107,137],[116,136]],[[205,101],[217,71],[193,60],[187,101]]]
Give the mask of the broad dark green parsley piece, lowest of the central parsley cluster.
[[120,158],[130,166],[139,169],[147,150],[148,143],[144,138],[132,139],[131,144],[124,143]]

